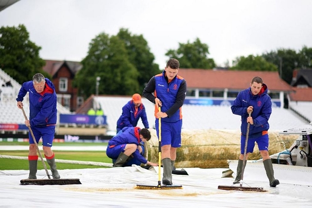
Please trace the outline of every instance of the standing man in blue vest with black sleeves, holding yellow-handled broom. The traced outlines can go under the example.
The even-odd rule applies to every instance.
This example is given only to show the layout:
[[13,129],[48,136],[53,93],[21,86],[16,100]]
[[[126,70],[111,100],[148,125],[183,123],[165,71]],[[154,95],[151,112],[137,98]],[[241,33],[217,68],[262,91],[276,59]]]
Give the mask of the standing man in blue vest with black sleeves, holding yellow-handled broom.
[[[182,111],[186,96],[186,81],[178,76],[179,61],[170,58],[165,70],[153,76],[143,90],[143,96],[155,103],[155,127],[159,138],[158,118],[161,118],[161,162],[163,185],[172,185],[172,170],[176,161],[176,149],[181,147]],[[161,107],[160,112],[158,107]]]

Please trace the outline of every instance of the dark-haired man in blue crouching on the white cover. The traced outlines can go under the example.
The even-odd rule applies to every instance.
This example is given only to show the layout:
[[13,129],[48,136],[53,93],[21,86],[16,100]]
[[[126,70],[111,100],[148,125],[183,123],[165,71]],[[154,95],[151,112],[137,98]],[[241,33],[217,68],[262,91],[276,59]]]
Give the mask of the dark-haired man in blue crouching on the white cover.
[[113,167],[124,167],[129,157],[133,157],[140,163],[149,166],[157,166],[156,163],[147,161],[141,154],[141,142],[151,139],[151,132],[148,129],[139,127],[124,127],[122,132],[118,133],[109,140],[106,154],[113,161],[116,159]]

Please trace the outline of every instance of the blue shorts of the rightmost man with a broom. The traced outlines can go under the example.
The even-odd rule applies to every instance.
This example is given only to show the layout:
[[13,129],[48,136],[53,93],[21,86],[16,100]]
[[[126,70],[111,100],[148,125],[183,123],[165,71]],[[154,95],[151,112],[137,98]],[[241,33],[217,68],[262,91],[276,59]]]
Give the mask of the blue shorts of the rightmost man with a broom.
[[[255,142],[258,144],[259,151],[262,151],[262,150],[269,151],[269,134],[268,133],[266,133],[262,136],[259,136],[257,138],[252,138],[252,139],[248,138],[246,153],[248,153],[248,152],[253,153],[254,152]],[[240,136],[240,153],[241,154],[244,154],[245,143],[246,143],[246,136],[241,135]]]

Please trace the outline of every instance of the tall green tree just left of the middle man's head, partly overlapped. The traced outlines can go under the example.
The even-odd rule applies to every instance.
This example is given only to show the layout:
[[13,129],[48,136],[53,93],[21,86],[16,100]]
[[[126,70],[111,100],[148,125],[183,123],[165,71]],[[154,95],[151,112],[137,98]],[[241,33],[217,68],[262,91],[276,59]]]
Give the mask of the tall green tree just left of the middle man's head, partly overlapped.
[[137,68],[139,75],[137,81],[139,83],[140,90],[143,91],[146,83],[149,79],[159,74],[158,64],[154,63],[155,57],[150,52],[150,48],[147,41],[142,35],[131,35],[128,29],[121,28],[117,34],[117,37],[124,41],[129,61]]

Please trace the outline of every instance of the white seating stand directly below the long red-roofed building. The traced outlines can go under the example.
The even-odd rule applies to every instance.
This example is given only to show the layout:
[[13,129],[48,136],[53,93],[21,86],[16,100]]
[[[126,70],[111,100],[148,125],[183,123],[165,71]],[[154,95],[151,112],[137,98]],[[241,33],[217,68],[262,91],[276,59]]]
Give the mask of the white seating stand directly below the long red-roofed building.
[[[116,122],[121,115],[122,107],[131,100],[131,97],[99,96],[95,100],[104,110],[107,116],[109,131],[116,131]],[[150,128],[155,127],[154,104],[142,97],[142,103],[146,108]],[[214,130],[239,130],[240,116],[234,115],[230,106],[205,106],[183,105],[183,129],[214,129]],[[309,124],[289,109],[274,107],[269,120],[270,130],[283,131],[297,126]],[[144,128],[141,120],[138,125]]]

